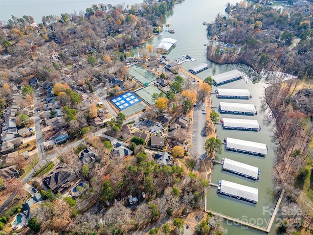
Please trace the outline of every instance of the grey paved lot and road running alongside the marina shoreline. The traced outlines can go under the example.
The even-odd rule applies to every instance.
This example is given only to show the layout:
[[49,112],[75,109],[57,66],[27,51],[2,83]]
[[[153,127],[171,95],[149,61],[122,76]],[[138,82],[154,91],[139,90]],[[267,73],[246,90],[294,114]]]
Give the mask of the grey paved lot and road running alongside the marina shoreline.
[[194,113],[192,118],[192,137],[191,142],[194,146],[190,148],[190,152],[198,153],[198,162],[195,167],[195,171],[198,170],[201,159],[206,157],[206,153],[204,150],[204,144],[206,140],[206,136],[203,135],[205,133],[205,120],[206,115],[202,114],[202,110],[206,109],[206,103],[199,103],[196,107],[194,107]]

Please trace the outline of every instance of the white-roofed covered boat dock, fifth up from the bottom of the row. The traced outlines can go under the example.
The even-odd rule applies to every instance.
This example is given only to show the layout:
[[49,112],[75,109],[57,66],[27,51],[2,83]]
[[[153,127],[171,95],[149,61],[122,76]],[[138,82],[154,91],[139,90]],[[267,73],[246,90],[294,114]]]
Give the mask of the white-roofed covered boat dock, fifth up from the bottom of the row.
[[257,111],[253,104],[226,103],[220,102],[220,113],[257,115]]

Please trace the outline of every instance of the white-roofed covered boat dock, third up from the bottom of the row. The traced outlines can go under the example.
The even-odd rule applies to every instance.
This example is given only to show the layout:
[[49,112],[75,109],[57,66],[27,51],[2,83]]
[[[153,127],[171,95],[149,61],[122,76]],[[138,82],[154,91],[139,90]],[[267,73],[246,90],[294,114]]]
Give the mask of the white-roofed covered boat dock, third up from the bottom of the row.
[[259,156],[266,156],[268,154],[268,148],[265,143],[238,140],[229,137],[226,138],[225,142],[226,150]]

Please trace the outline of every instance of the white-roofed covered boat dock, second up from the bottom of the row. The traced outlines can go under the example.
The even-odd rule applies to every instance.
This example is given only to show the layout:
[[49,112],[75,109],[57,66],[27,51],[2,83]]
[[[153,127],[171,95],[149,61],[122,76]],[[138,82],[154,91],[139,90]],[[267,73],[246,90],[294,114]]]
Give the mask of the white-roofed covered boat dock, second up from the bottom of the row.
[[252,179],[258,180],[258,167],[224,158],[223,170]]

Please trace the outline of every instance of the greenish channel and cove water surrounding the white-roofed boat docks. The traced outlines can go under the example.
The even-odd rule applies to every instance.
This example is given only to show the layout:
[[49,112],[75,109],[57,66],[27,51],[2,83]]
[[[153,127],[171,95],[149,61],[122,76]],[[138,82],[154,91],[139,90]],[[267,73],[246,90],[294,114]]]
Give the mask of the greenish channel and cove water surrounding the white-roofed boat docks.
[[[225,71],[238,69],[251,76],[251,69],[244,65],[217,65],[210,62],[206,58],[206,47],[203,44],[207,43],[206,26],[203,22],[214,21],[218,13],[224,14],[225,5],[228,0],[185,0],[175,6],[174,11],[167,17],[166,22],[171,24],[175,34],[168,32],[162,32],[162,36],[156,36],[151,42],[156,47],[162,38],[173,38],[177,40],[177,45],[168,54],[171,61],[174,59],[182,58],[187,54],[195,58],[195,62],[186,62],[182,65],[182,68],[189,70],[191,67],[205,62],[208,63],[210,68],[197,74],[198,77],[204,79],[207,76],[219,74]],[[236,1],[230,1],[230,4],[234,4]],[[222,165],[217,164],[213,169],[212,183],[218,183],[218,180],[224,179],[238,184],[243,184],[253,188],[258,188],[259,202],[254,205],[251,203],[243,202],[237,199],[231,199],[229,197],[221,196],[217,194],[217,188],[212,187],[207,192],[207,207],[209,210],[220,212],[231,217],[247,220],[253,224],[258,224],[262,227],[267,227],[267,221],[270,219],[270,214],[264,212],[268,208],[273,208],[272,202],[267,195],[267,188],[272,188],[272,167],[274,161],[274,145],[271,143],[270,136],[272,136],[274,123],[268,123],[267,112],[263,111],[262,100],[264,96],[264,83],[252,84],[252,82],[246,82],[242,80],[234,81],[219,88],[237,88],[237,89],[249,89],[252,94],[250,100],[236,100],[236,99],[217,99],[212,94],[212,103],[214,107],[219,106],[220,101],[233,102],[233,103],[250,103],[256,106],[258,115],[251,116],[238,116],[238,115],[220,115],[220,118],[242,118],[242,119],[256,119],[258,120],[262,130],[259,132],[249,131],[235,131],[235,130],[223,130],[222,125],[216,125],[217,134],[220,140],[224,140],[226,137],[262,142],[268,146],[268,155],[264,157],[250,156],[246,154],[239,154],[234,152],[225,151],[219,155],[219,159],[230,158],[235,161],[243,162],[246,164],[259,167],[261,170],[260,181],[247,180],[243,177],[236,176],[234,174],[226,173],[222,171]],[[212,88],[215,91],[215,87]],[[217,111],[218,112],[218,111]],[[224,148],[224,145],[223,145]],[[275,234],[275,223],[272,226],[270,234]],[[224,226],[228,229],[230,235],[251,235],[251,234],[265,234],[253,229],[249,229],[242,226],[232,225],[231,222],[224,222]]]

